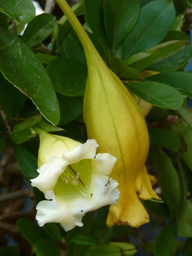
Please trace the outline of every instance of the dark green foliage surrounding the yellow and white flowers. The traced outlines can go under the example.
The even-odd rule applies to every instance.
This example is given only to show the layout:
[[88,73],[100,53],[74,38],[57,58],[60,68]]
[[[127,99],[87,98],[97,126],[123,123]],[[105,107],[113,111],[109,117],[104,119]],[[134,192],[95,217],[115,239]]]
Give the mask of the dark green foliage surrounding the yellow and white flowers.
[[[147,167],[158,177],[155,189],[163,201],[143,202],[151,221],[139,229],[106,227],[108,207],[103,207],[87,214],[82,228],[67,233],[58,224],[40,228],[34,221],[35,205],[44,196],[29,184],[37,175],[33,126],[87,140],[82,118],[87,67],[61,10],[52,1],[39,2],[49,13],[35,17],[31,0],[20,5],[0,0],[0,256],[134,255],[128,243],[137,246],[135,255],[192,255],[192,74],[184,72],[192,57],[190,0],[130,0],[130,6],[126,0],[105,0],[104,8],[101,0],[84,0],[73,6],[140,107],[141,99],[147,108],[154,105],[146,117]],[[118,12],[118,3],[125,5],[124,12]]]

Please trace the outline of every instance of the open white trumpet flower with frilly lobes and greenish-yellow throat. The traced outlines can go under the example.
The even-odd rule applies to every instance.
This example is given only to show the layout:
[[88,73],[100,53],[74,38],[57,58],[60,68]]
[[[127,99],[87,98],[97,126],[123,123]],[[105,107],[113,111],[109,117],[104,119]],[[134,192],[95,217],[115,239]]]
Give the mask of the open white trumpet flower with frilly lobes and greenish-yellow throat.
[[[54,141],[54,145],[49,145],[48,149],[43,150],[41,144],[46,145],[43,140],[45,136],[48,138],[47,143],[51,141],[53,145]],[[54,140],[51,136],[54,137]],[[62,148],[61,140],[65,143],[63,153],[55,154],[55,141],[57,143],[57,140],[60,150]],[[117,204],[118,183],[109,178],[116,157],[108,153],[96,155],[98,147],[96,140],[87,140],[86,143],[80,144],[68,138],[65,140],[61,136],[42,133],[40,141],[39,162],[41,159],[46,159],[48,151],[49,154],[54,153],[49,156],[49,162],[44,163],[37,170],[38,177],[31,180],[32,186],[44,192],[45,198],[48,199],[37,205],[36,219],[40,226],[49,222],[57,222],[66,231],[75,226],[82,227],[81,219],[86,212],[105,205]],[[73,148],[74,143],[77,143],[76,148],[67,151],[68,141]],[[51,148],[54,150],[51,151]],[[46,154],[46,157],[42,154]],[[58,157],[61,155],[62,157]]]

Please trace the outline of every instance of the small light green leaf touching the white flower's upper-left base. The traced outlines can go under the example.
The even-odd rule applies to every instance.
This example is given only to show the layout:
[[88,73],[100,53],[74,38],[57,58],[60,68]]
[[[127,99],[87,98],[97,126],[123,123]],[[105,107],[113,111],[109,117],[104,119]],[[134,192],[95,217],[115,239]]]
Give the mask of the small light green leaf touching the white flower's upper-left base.
[[35,130],[32,128],[38,122],[41,121],[41,115],[33,116],[26,119],[24,122],[15,125],[11,134],[9,134],[10,139],[15,144],[21,144],[32,137],[36,136]]

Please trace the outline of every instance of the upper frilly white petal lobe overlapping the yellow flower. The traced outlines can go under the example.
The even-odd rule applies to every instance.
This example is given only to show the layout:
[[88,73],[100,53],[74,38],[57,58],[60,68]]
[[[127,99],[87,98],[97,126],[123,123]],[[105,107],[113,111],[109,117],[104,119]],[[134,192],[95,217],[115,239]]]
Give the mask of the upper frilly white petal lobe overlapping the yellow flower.
[[63,159],[67,162],[78,163],[83,159],[93,159],[96,155],[98,144],[96,140],[87,140],[86,143],[77,146],[75,149],[63,153]]

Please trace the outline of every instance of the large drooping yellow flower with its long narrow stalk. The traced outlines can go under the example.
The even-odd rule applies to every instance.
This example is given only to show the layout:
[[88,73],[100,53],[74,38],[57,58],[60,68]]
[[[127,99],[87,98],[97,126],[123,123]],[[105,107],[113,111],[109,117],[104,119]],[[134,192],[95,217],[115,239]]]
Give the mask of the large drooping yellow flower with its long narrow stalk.
[[66,1],[56,1],[75,29],[87,59],[84,121],[88,138],[97,140],[101,153],[108,152],[117,158],[111,176],[119,183],[120,198],[117,205],[110,207],[107,224],[139,227],[149,221],[149,216],[138,196],[159,199],[145,168],[149,148],[145,119],[122,81],[102,60]]

